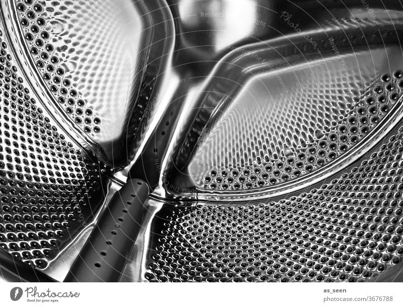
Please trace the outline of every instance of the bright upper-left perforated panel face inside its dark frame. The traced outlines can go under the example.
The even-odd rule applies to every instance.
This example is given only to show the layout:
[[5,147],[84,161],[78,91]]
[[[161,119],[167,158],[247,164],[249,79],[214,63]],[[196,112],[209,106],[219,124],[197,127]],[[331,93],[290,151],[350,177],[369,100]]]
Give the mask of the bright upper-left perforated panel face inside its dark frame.
[[15,5],[28,56],[65,113],[94,139],[113,138],[116,118],[131,108],[127,103],[143,70],[143,63],[135,62],[144,50],[136,50],[132,3],[16,0]]

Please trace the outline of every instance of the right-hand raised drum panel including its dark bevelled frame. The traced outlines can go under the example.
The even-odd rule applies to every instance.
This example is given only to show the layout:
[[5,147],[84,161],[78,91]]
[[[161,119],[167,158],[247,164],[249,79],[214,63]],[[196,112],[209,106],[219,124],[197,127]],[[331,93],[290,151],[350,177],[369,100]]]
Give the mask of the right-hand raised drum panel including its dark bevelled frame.
[[368,149],[360,144],[373,145],[393,128],[400,94],[388,84],[395,72],[390,62],[399,67],[401,53],[393,22],[381,32],[391,36],[387,44],[379,25],[342,29],[334,23],[246,47],[229,45],[163,174],[162,185],[174,181],[176,187],[166,185],[168,193],[187,189],[198,199],[286,194],[344,168]]

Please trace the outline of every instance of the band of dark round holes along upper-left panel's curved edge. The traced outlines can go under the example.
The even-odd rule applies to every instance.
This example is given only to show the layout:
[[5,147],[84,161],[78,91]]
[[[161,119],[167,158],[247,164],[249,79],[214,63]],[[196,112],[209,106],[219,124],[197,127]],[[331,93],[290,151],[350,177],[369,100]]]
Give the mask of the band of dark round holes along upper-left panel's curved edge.
[[[72,80],[70,68],[64,64],[66,58],[62,57],[62,52],[68,51],[73,56],[75,50],[71,39],[63,39],[62,32],[68,31],[68,27],[64,29],[65,25],[59,19],[51,19],[52,14],[66,19],[61,14],[69,14],[68,7],[72,4],[69,1],[63,4],[57,1],[24,0],[17,2],[17,10],[31,55],[50,91],[76,124],[85,132],[94,134],[100,132],[101,119],[76,88],[77,81]],[[59,14],[54,13],[55,11]],[[55,29],[60,33],[56,33]]]

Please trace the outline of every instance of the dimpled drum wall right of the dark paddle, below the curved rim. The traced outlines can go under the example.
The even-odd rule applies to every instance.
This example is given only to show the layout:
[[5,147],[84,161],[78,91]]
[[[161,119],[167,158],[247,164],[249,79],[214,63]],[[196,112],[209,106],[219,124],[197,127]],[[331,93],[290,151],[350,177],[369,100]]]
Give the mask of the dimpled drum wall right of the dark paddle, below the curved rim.
[[149,281],[366,281],[403,256],[403,127],[340,178],[278,202],[157,213]]

